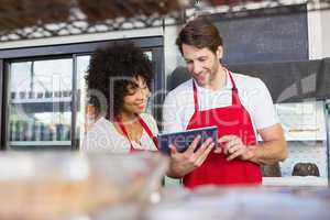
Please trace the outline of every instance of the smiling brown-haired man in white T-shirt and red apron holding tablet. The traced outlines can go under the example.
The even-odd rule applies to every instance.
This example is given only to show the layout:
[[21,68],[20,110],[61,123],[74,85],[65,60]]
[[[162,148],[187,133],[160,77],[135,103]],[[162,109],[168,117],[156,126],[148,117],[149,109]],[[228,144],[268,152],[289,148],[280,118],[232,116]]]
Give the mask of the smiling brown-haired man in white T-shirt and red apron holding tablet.
[[[257,78],[233,74],[221,65],[222,38],[206,18],[180,31],[176,44],[191,79],[172,90],[163,109],[164,131],[217,125],[218,143],[207,140],[184,153],[170,146],[167,175],[188,188],[200,185],[258,185],[260,165],[287,157],[287,146],[271,95]],[[263,144],[256,141],[256,133]],[[216,146],[216,147],[215,147]]]

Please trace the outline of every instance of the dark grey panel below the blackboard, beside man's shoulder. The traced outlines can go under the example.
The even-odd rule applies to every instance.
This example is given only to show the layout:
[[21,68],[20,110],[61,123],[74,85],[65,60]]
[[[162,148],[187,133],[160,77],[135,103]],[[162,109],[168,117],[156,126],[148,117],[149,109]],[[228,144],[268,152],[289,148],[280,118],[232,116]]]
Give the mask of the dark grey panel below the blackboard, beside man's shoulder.
[[276,103],[330,97],[330,59],[250,63],[227,67],[234,73],[262,79]]

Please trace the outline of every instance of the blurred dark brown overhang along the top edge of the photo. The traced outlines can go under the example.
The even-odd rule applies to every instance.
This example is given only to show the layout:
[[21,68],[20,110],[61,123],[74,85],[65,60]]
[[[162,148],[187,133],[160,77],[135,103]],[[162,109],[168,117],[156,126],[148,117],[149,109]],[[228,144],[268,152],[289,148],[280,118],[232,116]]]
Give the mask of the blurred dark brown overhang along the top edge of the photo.
[[0,42],[178,24],[186,9],[246,12],[248,2],[284,6],[280,0],[0,0]]

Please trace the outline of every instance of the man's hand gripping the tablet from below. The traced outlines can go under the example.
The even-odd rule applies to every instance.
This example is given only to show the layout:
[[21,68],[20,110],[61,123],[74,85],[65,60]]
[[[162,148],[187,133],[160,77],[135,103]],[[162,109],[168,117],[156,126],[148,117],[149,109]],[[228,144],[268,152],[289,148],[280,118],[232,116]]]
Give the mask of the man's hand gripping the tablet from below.
[[199,167],[205,162],[205,160],[213,148],[215,143],[212,142],[212,139],[209,138],[195,152],[199,142],[200,136],[195,138],[189,147],[183,153],[177,152],[175,145],[169,146],[170,164],[169,170],[167,172],[167,175],[169,177],[180,178],[186,174],[193,172],[195,168]]

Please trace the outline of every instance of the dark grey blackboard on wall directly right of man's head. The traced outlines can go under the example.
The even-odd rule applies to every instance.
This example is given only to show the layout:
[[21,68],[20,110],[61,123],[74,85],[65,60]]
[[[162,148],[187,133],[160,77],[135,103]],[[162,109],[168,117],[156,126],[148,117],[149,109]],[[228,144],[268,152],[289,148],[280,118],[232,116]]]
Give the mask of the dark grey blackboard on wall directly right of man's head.
[[[278,10],[280,11],[280,10]],[[242,18],[211,15],[223,37],[224,64],[308,59],[308,24],[305,4],[286,13]]]

